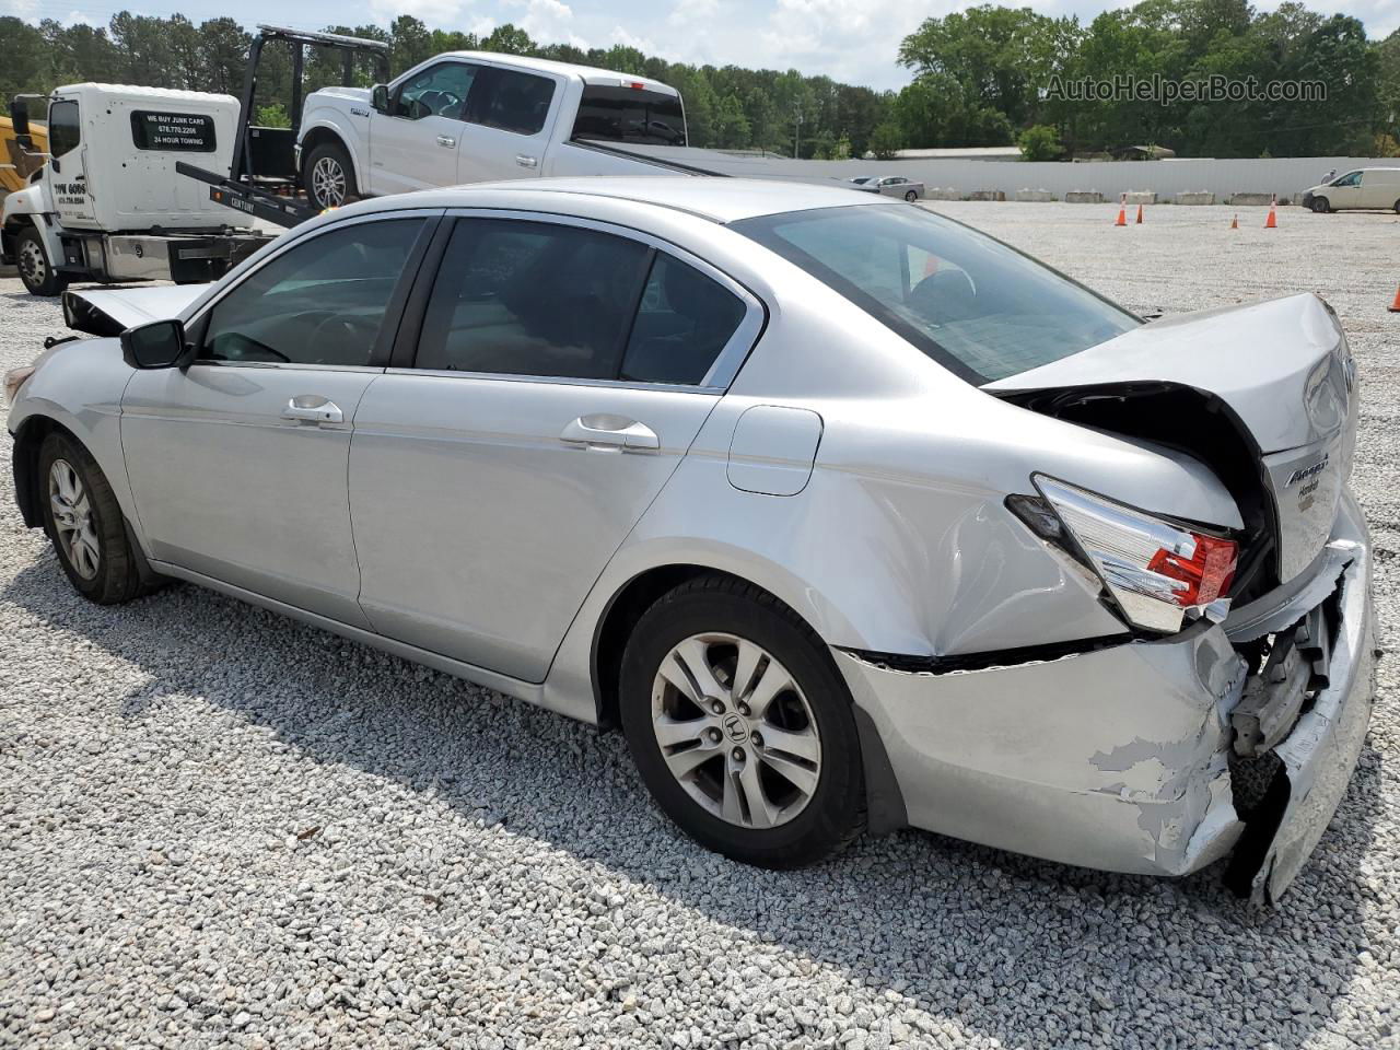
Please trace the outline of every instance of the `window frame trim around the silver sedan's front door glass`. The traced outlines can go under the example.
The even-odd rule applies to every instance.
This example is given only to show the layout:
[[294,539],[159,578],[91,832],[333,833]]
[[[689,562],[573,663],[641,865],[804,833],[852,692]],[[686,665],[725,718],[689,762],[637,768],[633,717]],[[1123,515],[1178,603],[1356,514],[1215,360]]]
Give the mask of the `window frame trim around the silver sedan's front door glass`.
[[437,232],[444,225],[451,225],[442,221],[444,209],[396,209],[392,211],[374,211],[367,216],[356,216],[354,218],[332,220],[325,225],[316,227],[305,232],[301,237],[290,238],[286,244],[279,244],[279,251],[269,253],[265,259],[259,259],[256,266],[249,267],[238,274],[237,281],[230,281],[228,287],[220,288],[216,295],[199,304],[199,309],[190,315],[190,319],[185,322],[185,330],[190,343],[199,347],[199,353],[204,350],[204,336],[209,330],[209,322],[213,316],[214,309],[223,300],[231,294],[235,288],[244,286],[244,283],[252,277],[255,273],[262,270],[265,266],[272,263],[274,259],[280,259],[290,251],[294,251],[298,245],[308,244],[318,237],[323,237],[336,230],[344,230],[350,225],[360,225],[363,223],[379,223],[389,220],[403,220],[403,218],[420,218],[424,220],[423,228],[419,231],[417,239],[409,249],[409,258],[403,265],[403,272],[399,274],[398,283],[393,286],[393,291],[389,293],[389,300],[384,307],[384,323],[379,328],[379,335],[375,339],[374,350],[370,354],[368,364],[309,364],[298,361],[221,361],[210,357],[199,357],[192,361],[190,367],[200,365],[207,368],[288,368],[295,371],[336,371],[336,372],[382,372],[389,367],[391,351],[398,340],[399,329],[403,325],[405,305],[409,300],[410,290],[414,287],[420,272],[423,270],[423,262],[428,253],[428,248],[433,244]]

